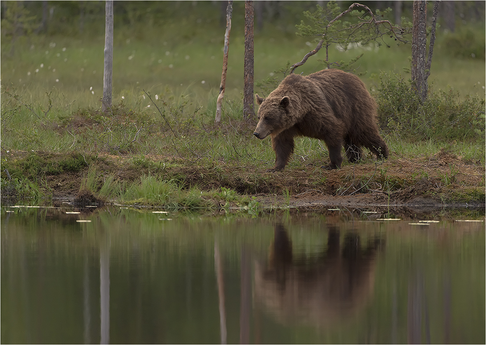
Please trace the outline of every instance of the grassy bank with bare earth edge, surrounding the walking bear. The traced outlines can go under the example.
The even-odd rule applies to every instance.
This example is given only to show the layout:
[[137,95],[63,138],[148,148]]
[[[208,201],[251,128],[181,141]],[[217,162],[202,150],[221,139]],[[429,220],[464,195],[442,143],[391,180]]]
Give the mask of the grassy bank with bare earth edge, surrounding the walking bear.
[[[367,155],[356,165],[344,162],[340,171],[322,171],[329,159],[324,143],[297,138],[286,170],[265,173],[275,159],[270,141],[251,135],[256,119],[242,120],[239,17],[230,38],[223,122],[213,123],[224,29],[209,10],[116,27],[113,107],[106,114],[100,111],[104,31],[95,34],[96,25],[83,35],[21,37],[14,50],[2,39],[2,200],[251,212],[329,195],[484,203],[484,56],[453,54],[451,36],[438,35],[430,101],[422,105],[407,91],[410,46],[331,51],[336,60],[364,52],[358,72],[380,106],[389,159]],[[313,48],[287,19],[256,33],[256,80]],[[478,28],[475,35],[484,40],[484,26]],[[319,69],[314,58],[297,72]]]

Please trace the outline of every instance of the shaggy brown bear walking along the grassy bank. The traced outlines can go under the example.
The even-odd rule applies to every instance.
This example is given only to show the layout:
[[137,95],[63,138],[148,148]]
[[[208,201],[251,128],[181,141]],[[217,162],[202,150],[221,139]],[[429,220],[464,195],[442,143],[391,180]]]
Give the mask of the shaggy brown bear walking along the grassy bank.
[[291,74],[266,99],[255,95],[258,124],[253,135],[270,135],[275,151],[275,167],[281,171],[294,151],[294,137],[324,140],[330,164],[325,169],[341,167],[344,143],[349,162],[368,148],[377,158],[387,158],[388,148],[376,122],[376,103],[363,82],[340,69],[324,69],[308,76]]

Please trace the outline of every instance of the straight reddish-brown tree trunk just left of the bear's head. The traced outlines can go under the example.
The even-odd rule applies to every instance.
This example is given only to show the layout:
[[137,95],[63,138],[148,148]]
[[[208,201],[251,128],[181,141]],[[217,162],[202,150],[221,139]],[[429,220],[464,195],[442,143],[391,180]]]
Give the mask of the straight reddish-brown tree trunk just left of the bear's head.
[[243,118],[248,120],[255,116],[255,105],[253,103],[253,1],[245,1],[244,12]]

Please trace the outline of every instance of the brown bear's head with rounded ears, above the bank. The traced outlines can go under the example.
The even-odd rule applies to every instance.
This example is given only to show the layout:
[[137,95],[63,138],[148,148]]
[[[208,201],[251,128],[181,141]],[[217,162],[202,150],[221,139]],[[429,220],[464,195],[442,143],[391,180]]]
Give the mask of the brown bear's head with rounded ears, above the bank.
[[258,109],[258,124],[253,135],[259,139],[264,139],[270,134],[278,135],[281,131],[290,128],[287,120],[289,118],[289,96],[261,98],[255,95],[255,100],[260,108]]

